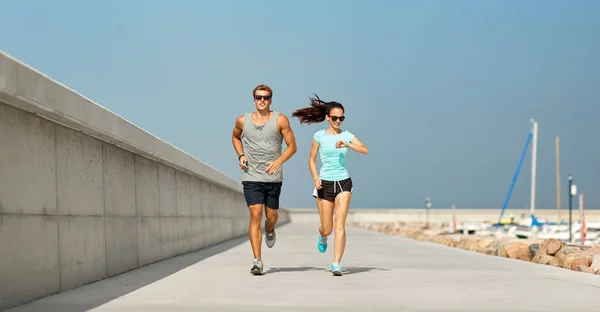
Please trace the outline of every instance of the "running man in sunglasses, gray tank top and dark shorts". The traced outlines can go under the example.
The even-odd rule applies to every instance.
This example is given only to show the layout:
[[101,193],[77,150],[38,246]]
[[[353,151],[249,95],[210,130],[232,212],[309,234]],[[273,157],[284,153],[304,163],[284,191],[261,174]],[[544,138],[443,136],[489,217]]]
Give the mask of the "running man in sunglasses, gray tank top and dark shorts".
[[[296,139],[288,118],[271,110],[271,88],[259,85],[254,88],[252,95],[256,110],[236,119],[231,141],[243,170],[244,197],[250,210],[248,236],[254,254],[250,273],[261,275],[263,262],[260,223],[263,206],[266,214],[265,241],[267,247],[271,248],[276,239],[275,225],[283,181],[281,166],[296,153]],[[283,140],[287,148],[282,153]]]

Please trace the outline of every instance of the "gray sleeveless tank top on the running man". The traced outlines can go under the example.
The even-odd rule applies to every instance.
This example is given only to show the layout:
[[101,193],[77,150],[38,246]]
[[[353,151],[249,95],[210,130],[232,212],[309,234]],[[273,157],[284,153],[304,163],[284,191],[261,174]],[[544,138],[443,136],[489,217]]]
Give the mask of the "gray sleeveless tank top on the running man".
[[244,130],[242,143],[244,154],[248,159],[248,169],[242,173],[242,181],[281,182],[283,181],[283,166],[279,171],[270,175],[265,172],[267,162],[281,156],[283,136],[277,129],[278,112],[273,112],[269,121],[262,126],[254,124],[252,113],[244,114]]

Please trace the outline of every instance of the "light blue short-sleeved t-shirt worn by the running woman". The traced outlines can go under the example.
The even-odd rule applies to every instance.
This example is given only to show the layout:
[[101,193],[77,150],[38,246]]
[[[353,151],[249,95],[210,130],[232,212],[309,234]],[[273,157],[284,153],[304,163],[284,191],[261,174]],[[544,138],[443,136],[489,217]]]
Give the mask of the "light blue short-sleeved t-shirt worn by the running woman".
[[346,169],[346,153],[348,148],[336,148],[335,142],[343,140],[346,144],[354,139],[354,134],[343,130],[340,134],[329,134],[325,130],[319,130],[313,138],[319,143],[319,156],[321,159],[321,170],[319,178],[326,181],[341,181],[350,177]]

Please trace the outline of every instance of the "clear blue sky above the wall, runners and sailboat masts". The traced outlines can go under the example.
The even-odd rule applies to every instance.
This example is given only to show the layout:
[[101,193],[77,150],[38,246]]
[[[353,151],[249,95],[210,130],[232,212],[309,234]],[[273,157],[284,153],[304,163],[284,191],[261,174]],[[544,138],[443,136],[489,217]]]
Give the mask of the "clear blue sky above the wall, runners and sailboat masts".
[[[499,208],[539,121],[538,208],[567,174],[600,207],[600,2],[5,0],[0,49],[239,179],[234,120],[252,89],[286,115],[345,105],[353,207]],[[292,126],[283,205],[314,207],[311,137]],[[529,204],[531,151],[510,207]],[[576,201],[574,201],[576,203]],[[576,205],[576,204],[575,204]]]

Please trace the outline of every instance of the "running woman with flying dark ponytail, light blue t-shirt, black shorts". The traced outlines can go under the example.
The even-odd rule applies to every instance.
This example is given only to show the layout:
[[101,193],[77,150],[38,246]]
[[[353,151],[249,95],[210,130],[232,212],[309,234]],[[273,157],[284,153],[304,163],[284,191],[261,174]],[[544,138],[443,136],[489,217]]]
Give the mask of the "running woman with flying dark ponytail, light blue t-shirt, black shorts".
[[[327,237],[333,230],[335,211],[335,242],[331,272],[342,275],[340,262],[346,246],[346,216],[352,199],[352,179],[346,169],[348,149],[368,154],[369,149],[354,134],[340,127],[346,118],[344,106],[338,102],[324,102],[317,95],[309,97],[310,106],[292,113],[300,123],[311,124],[324,120],[329,122],[327,129],[313,135],[310,149],[309,169],[314,180],[313,196],[316,198],[321,226],[317,247],[320,252],[327,250]],[[321,169],[317,173],[317,151]]]

